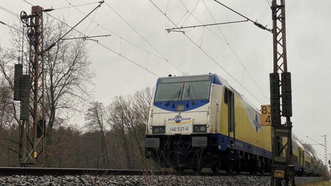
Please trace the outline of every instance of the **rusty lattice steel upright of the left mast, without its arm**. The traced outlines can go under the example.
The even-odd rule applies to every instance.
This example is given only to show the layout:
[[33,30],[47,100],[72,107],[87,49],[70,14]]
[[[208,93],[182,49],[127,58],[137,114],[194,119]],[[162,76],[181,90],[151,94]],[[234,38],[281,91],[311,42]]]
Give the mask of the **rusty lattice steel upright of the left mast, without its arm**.
[[[29,72],[26,75],[28,80],[25,81],[25,84],[30,85],[29,100],[21,100],[21,120],[24,130],[22,159],[20,160],[22,167],[36,165],[43,167],[45,165],[44,64],[41,55],[44,39],[42,12],[43,9],[40,6],[32,6],[29,16],[24,11],[21,12],[21,21],[28,28],[27,36],[30,46]],[[22,87],[23,83],[22,80]],[[26,107],[26,102],[28,107]],[[22,113],[26,113],[27,109],[29,115],[22,118]]]

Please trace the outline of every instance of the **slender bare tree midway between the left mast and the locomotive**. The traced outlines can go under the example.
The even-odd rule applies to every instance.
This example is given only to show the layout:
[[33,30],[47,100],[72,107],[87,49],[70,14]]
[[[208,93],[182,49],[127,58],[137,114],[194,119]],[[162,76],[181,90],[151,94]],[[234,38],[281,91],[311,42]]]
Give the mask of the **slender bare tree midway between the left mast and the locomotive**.
[[[92,102],[90,103],[89,108],[85,114],[85,127],[88,129],[89,132],[98,132],[100,134],[100,156],[103,162],[103,167],[109,167],[109,157],[108,157],[108,150],[105,143],[105,114],[104,114],[104,106],[103,103],[99,102]],[[99,158],[98,158],[99,160]]]

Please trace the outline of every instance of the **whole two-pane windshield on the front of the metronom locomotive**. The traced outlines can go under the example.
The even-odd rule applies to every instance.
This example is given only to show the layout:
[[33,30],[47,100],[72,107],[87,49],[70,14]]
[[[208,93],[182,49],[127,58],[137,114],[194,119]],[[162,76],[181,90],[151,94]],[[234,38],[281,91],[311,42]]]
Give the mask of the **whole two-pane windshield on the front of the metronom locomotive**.
[[[207,100],[210,79],[211,76],[161,79],[155,102]],[[183,85],[184,90],[182,90]]]

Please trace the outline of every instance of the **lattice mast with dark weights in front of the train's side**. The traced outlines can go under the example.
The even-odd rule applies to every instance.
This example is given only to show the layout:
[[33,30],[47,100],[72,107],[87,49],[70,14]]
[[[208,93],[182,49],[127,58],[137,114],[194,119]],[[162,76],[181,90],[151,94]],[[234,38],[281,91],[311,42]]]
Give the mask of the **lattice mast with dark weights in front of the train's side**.
[[[270,74],[271,186],[293,186],[295,184],[292,163],[292,123],[290,121],[292,93],[291,74],[288,72],[286,54],[285,0],[272,0],[271,10],[273,21],[273,73]],[[281,72],[281,79],[278,72]],[[280,105],[282,105],[282,109]],[[286,118],[285,124],[281,122],[282,117]]]

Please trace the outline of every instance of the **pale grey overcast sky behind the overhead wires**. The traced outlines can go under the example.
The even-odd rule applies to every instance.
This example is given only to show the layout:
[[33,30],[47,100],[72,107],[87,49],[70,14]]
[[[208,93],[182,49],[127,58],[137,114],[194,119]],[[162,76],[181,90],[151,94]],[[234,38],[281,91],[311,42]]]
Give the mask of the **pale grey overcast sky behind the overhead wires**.
[[[96,2],[93,0],[27,1],[43,8],[54,9],[69,6],[69,3],[79,5]],[[201,23],[195,18],[204,24],[215,23],[209,11],[217,23],[245,20],[213,0],[182,0],[189,12],[192,12],[196,6],[192,15],[187,12],[181,0],[152,1],[163,13],[166,12],[166,16],[171,21],[178,23],[178,26],[200,25]],[[253,21],[258,20],[263,25],[268,24],[269,28],[272,25],[271,10],[267,0],[220,1]],[[165,29],[173,28],[174,25],[149,0],[106,0],[106,2],[152,46],[105,3],[98,8],[93,18],[97,23],[86,19],[77,27],[77,30],[90,36],[111,34],[112,36],[104,38],[100,43],[117,53],[121,48],[122,56],[158,76],[181,75],[180,71],[168,63],[171,62],[189,75],[208,72],[220,75],[257,108],[260,107],[260,102],[269,103],[269,73],[273,69],[271,33],[256,27],[251,22],[220,25],[220,29],[217,26],[185,29],[186,36],[200,46],[200,49],[183,33],[167,33]],[[94,3],[77,8],[87,14],[96,5],[97,3]],[[20,14],[22,10],[28,14],[31,12],[31,5],[23,0],[1,0],[0,6],[17,14]],[[331,142],[330,7],[330,0],[288,0],[286,2],[288,70],[292,73],[293,117],[291,121],[294,133],[311,144],[316,143],[305,136],[327,135],[328,141]],[[51,14],[56,18],[65,17],[68,25],[73,26],[84,17],[79,10],[71,7],[54,10]],[[93,15],[94,13],[90,17],[92,18]],[[20,23],[15,16],[2,9],[0,9],[0,21],[7,24]],[[0,25],[1,46],[8,45],[10,37],[8,31],[8,27]],[[91,67],[97,74],[94,80],[95,100],[106,105],[114,96],[133,94],[147,86],[155,86],[157,76],[145,69],[95,42],[89,41],[88,47]],[[254,99],[243,86],[259,101]],[[324,144],[323,137],[313,137],[313,139]],[[318,150],[318,154],[322,155],[321,158],[324,158],[324,147],[321,145],[314,145],[314,147]],[[331,143],[328,147],[331,149]]]

